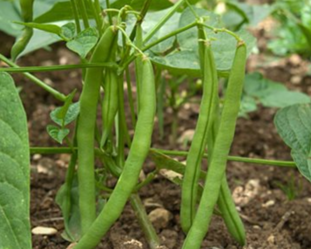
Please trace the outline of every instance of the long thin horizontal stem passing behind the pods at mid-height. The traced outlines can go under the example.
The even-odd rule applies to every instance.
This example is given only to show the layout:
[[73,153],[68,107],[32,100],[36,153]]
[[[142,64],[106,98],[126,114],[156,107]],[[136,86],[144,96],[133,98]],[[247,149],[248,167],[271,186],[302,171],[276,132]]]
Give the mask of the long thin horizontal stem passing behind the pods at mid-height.
[[[77,148],[74,148],[77,150]],[[151,148],[151,151],[160,152],[167,156],[176,156],[176,157],[185,157],[188,155],[188,151],[177,151],[177,150],[164,150]],[[72,149],[69,147],[31,147],[30,154],[71,154]],[[101,155],[102,152],[98,148],[95,148],[95,154]],[[203,154],[204,158],[207,158],[207,153]],[[261,159],[261,158],[249,158],[249,157],[238,157],[238,156],[228,156],[229,161],[233,162],[248,162],[254,164],[264,164],[269,166],[279,166],[279,167],[288,167],[288,168],[296,168],[296,163],[293,161],[280,161],[280,160],[269,160],[269,159]]]

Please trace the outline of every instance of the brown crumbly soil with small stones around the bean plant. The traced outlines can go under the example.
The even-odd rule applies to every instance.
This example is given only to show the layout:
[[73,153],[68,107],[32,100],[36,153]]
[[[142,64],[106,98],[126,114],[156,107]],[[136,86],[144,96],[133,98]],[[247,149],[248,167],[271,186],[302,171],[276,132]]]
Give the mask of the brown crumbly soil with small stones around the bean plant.
[[[262,36],[262,34],[260,35]],[[12,38],[0,33],[0,52],[9,55]],[[264,50],[265,43],[261,42]],[[77,57],[68,52],[62,44],[52,50],[39,50],[19,61],[20,65],[51,65],[77,63]],[[1,65],[1,64],[0,64]],[[311,78],[306,76],[308,63],[298,55],[277,63],[265,63],[265,57],[253,55],[249,59],[248,71],[259,70],[267,78],[283,82],[291,89],[311,92]],[[74,88],[81,90],[80,71],[59,71],[35,73],[45,82],[61,92],[69,93]],[[49,138],[45,127],[51,124],[49,112],[60,102],[41,88],[26,80],[21,74],[13,75],[16,84],[22,87],[23,100],[29,124],[31,146],[58,146]],[[295,79],[295,81],[293,80]],[[199,95],[196,96],[199,98]],[[195,127],[198,104],[183,106],[179,113],[178,137]],[[276,109],[259,106],[248,119],[238,120],[231,155],[261,157],[267,159],[291,160],[290,149],[282,142],[273,125]],[[165,139],[160,140],[155,129],[153,147],[185,149],[182,143],[169,145],[171,110],[166,109]],[[128,121],[130,118],[128,117]],[[130,121],[129,121],[130,122]],[[184,158],[179,158],[183,161]],[[52,227],[54,235],[33,235],[34,249],[64,249],[69,245],[62,237],[64,229],[62,214],[55,204],[55,195],[64,181],[68,155],[33,155],[31,161],[31,224],[32,227]],[[145,174],[154,168],[148,160]],[[247,231],[247,246],[244,249],[310,249],[311,248],[311,185],[295,169],[229,162],[227,177],[233,191],[237,208]],[[294,186],[290,185],[294,179]],[[285,191],[287,190],[287,191]],[[290,192],[290,190],[292,190]],[[289,200],[290,193],[295,194]],[[169,214],[165,222],[156,226],[163,246],[169,249],[181,248],[184,234],[180,229],[180,188],[158,176],[140,191],[140,196],[150,213],[161,208]],[[161,217],[158,217],[161,218]],[[162,217],[163,218],[163,217]],[[111,228],[100,249],[148,248],[143,233],[131,206],[128,204],[118,222]],[[203,249],[241,249],[230,238],[221,218],[214,217],[203,244]]]

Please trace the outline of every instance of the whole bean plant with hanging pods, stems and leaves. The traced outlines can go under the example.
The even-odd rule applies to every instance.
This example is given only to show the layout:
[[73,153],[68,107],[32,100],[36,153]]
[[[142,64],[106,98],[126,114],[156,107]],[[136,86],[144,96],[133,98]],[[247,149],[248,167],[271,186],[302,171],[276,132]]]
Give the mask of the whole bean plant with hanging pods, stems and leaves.
[[[18,24],[25,26],[24,32],[12,47],[12,60],[0,55],[8,65],[0,71],[0,248],[31,248],[28,165],[29,155],[33,153],[71,154],[65,183],[58,191],[56,202],[63,212],[63,237],[73,242],[75,249],[95,248],[128,201],[149,247],[160,247],[139,191],[163,168],[183,175],[182,181],[177,182],[182,189],[183,249],[201,247],[213,214],[220,215],[232,238],[241,246],[245,245],[244,225],[225,174],[227,161],[294,168],[299,163],[229,156],[253,38],[247,31],[232,32],[221,27],[213,13],[193,3],[187,0],[175,4],[165,0],[111,3],[109,0],[104,3],[71,0],[56,3],[54,9],[36,19],[34,1],[20,0],[24,21]],[[59,6],[69,7],[68,16],[56,11]],[[156,18],[148,22],[153,15]],[[172,22],[176,23],[178,18],[180,26],[176,28]],[[74,22],[63,26],[51,23],[71,19]],[[31,43],[32,33],[37,29],[58,35],[68,49],[80,56],[81,63],[19,67],[16,60]],[[136,92],[130,80],[132,67],[135,68]],[[80,94],[74,89],[65,95],[31,74],[76,68],[83,72]],[[163,69],[202,80],[200,112],[188,152],[151,147],[159,99],[157,92],[165,91],[161,84],[160,87],[156,84],[159,78],[156,76]],[[47,132],[66,146],[29,148],[26,115],[9,72],[23,73],[63,102],[51,112],[55,124],[49,125]],[[220,101],[219,78],[227,79],[224,101]],[[124,98],[125,95],[128,98]],[[77,96],[79,101],[74,102]],[[126,120],[126,106],[130,109],[131,124]],[[293,110],[290,111],[293,114]],[[102,119],[100,126],[98,116]],[[75,128],[70,131],[67,125],[71,122]],[[276,120],[280,122],[284,120]],[[134,135],[129,133],[131,128]],[[284,134],[290,145],[292,137]],[[298,155],[304,152],[308,158],[307,150],[293,148],[293,151],[297,160],[302,160]],[[141,181],[139,175],[148,156],[156,163],[156,169]],[[186,165],[170,156],[187,157]],[[208,162],[206,172],[201,167],[203,158]],[[95,167],[95,160],[100,161],[102,167]],[[304,169],[301,167],[300,171],[308,178],[310,172]],[[111,177],[117,179],[114,187],[107,185]],[[201,180],[205,181],[204,187],[199,184]]]

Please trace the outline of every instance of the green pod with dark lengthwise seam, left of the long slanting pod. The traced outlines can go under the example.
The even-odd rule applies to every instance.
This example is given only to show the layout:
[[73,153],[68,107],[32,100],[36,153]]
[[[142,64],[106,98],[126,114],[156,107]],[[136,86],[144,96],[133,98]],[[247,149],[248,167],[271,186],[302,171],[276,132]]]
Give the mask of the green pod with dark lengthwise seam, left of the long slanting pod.
[[207,135],[213,124],[213,116],[216,110],[215,98],[218,96],[217,70],[209,41],[206,42],[204,51],[203,95],[197,126],[187,156],[182,185],[180,222],[185,233],[190,229],[196,214],[201,162],[207,145]]

